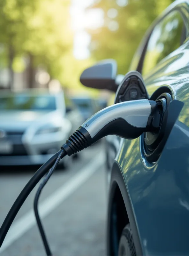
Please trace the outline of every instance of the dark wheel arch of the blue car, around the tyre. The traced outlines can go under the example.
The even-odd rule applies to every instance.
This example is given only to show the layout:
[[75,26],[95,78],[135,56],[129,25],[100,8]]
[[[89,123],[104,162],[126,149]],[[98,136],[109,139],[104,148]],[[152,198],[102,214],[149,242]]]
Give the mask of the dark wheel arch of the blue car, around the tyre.
[[[122,221],[123,223],[121,223]],[[117,162],[114,162],[108,200],[107,255],[117,256],[119,238],[123,228],[128,223],[130,223],[132,229],[136,253],[137,255],[143,255],[140,236],[125,180],[119,165]]]

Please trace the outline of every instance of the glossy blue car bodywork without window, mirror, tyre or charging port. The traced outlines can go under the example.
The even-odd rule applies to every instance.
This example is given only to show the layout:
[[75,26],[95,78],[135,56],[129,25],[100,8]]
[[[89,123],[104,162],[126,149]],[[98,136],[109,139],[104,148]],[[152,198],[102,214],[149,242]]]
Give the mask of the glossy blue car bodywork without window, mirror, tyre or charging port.
[[181,15],[186,39],[143,78],[149,95],[168,92],[184,107],[155,162],[144,155],[143,136],[135,140],[113,136],[107,140],[108,255],[117,255],[127,223],[131,225],[137,255],[189,255],[189,1],[174,2],[155,21],[131,69],[143,75],[152,31],[172,12]]

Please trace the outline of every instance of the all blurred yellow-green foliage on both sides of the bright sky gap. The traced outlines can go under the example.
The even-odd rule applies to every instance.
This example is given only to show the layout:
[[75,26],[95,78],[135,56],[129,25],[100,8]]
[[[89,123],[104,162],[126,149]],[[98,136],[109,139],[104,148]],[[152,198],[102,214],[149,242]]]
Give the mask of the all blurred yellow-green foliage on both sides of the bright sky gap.
[[[125,6],[119,6],[118,0],[96,1],[91,8],[102,8],[104,26],[88,30],[92,36],[92,57],[81,61],[72,54],[71,0],[1,0],[0,68],[22,72],[28,65],[28,56],[32,56],[33,68],[45,68],[64,87],[85,90],[79,75],[96,60],[116,59],[118,73],[128,71],[145,31],[171,2],[128,0]],[[114,18],[108,16],[111,8],[117,10]]]

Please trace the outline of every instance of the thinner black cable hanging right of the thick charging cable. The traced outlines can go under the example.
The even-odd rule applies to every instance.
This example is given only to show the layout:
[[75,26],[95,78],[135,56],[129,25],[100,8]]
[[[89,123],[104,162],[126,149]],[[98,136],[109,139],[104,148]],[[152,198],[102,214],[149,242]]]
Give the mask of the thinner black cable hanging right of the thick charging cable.
[[62,156],[65,155],[65,151],[62,149],[61,152],[59,153],[57,160],[55,161],[55,163],[53,164],[53,166],[50,168],[49,172],[47,173],[47,175],[45,176],[44,180],[42,181],[42,183],[40,184],[39,188],[37,189],[37,192],[35,194],[35,198],[34,198],[34,213],[35,213],[35,218],[37,221],[37,226],[39,228],[39,232],[41,234],[42,237],[42,241],[45,247],[45,251],[47,256],[52,256],[52,252],[50,251],[50,246],[49,243],[47,241],[47,237],[45,235],[45,231],[44,228],[42,226],[42,222],[39,216],[39,212],[38,212],[38,201],[39,201],[39,196],[42,192],[42,189],[44,188],[44,186],[46,185],[47,181],[50,179],[53,171],[56,169],[57,164],[59,163],[60,159],[62,158]]

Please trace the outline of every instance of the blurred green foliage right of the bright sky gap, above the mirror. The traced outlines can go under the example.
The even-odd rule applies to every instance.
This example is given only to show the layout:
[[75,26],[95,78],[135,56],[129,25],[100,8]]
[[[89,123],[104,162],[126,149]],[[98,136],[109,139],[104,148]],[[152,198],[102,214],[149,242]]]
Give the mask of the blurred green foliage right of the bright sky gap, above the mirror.
[[[116,59],[118,73],[125,74],[147,28],[171,2],[173,1],[128,0],[125,6],[119,6],[115,0],[98,1],[91,8],[103,9],[104,26],[89,31],[92,36],[93,56],[97,60]],[[115,18],[108,17],[110,8],[117,10]],[[115,31],[111,31],[112,21],[118,23],[118,29]]]

